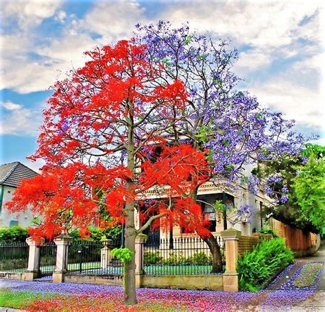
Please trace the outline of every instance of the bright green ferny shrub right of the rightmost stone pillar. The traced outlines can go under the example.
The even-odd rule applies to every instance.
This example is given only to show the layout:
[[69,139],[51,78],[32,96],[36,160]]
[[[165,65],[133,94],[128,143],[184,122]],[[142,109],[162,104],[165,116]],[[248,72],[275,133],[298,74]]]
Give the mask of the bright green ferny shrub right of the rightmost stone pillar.
[[242,291],[258,291],[293,261],[293,252],[283,239],[272,239],[258,244],[238,261],[239,288]]

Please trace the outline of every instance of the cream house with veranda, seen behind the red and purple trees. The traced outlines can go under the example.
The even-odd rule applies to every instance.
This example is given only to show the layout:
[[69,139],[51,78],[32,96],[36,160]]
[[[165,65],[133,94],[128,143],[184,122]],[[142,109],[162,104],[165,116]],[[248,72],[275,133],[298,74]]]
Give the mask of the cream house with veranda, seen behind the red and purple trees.
[[[247,175],[252,171],[252,167],[245,168]],[[234,185],[234,187],[227,186],[227,182],[217,182],[210,180],[204,183],[197,193],[197,203],[202,206],[202,213],[204,217],[210,221],[209,230],[213,232],[213,235],[217,236],[222,230],[227,228],[235,228],[240,230],[242,235],[250,236],[253,232],[258,232],[263,227],[264,216],[263,206],[268,204],[268,199],[263,191],[258,191],[257,194],[252,194],[248,191],[247,184]],[[158,192],[159,193],[159,192]],[[156,190],[147,191],[145,193],[146,198],[150,199],[162,199],[163,193],[158,194]],[[250,208],[248,215],[238,218],[234,211],[236,209],[230,209],[225,215],[215,213],[213,204],[217,201],[221,201],[227,207],[240,208],[243,205],[247,205]],[[234,223],[232,220],[236,219]],[[139,215],[135,216],[136,228],[141,226],[139,221]],[[171,232],[163,232],[160,228],[155,228],[152,231],[151,226],[145,230],[145,234],[156,239],[169,239],[171,237],[189,237],[191,233],[186,233],[178,226],[173,226]]]

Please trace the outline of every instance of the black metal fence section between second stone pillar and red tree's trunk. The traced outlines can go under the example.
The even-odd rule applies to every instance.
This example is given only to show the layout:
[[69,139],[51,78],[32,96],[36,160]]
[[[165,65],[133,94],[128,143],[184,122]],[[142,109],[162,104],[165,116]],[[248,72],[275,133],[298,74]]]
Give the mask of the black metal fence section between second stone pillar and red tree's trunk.
[[[110,248],[121,247],[121,241],[112,241]],[[67,270],[70,274],[112,275],[123,274],[123,266],[112,259],[106,267],[101,265],[101,248],[96,241],[73,241],[69,244]]]

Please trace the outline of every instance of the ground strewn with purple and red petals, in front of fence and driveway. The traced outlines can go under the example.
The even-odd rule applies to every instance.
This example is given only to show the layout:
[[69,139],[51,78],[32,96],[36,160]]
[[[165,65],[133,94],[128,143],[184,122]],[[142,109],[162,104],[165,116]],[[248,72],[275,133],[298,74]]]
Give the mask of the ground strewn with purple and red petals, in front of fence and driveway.
[[[138,289],[139,304],[132,308],[124,306],[121,287],[106,285],[0,280],[0,299],[11,296],[12,301],[21,302],[21,308],[38,311],[239,311],[253,307],[258,307],[254,308],[258,311],[285,311],[310,299],[320,280],[320,263],[296,268],[297,264],[291,265],[274,280],[273,286],[287,276],[278,289],[270,290],[270,285],[258,293]],[[303,276],[308,285],[304,285]],[[309,276],[313,276],[313,283],[309,283]]]

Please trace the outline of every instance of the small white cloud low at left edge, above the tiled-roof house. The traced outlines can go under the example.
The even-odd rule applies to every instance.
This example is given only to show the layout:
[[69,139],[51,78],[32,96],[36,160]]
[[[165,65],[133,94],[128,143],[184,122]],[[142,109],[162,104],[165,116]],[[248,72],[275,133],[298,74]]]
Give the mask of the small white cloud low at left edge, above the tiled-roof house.
[[15,134],[23,136],[35,136],[40,125],[40,111],[29,110],[20,104],[6,101],[1,103],[6,110],[1,114],[0,134]]

